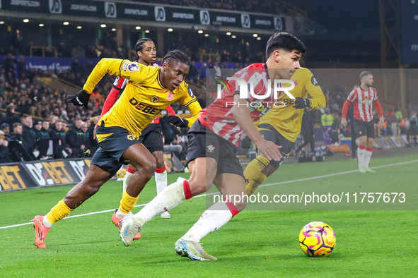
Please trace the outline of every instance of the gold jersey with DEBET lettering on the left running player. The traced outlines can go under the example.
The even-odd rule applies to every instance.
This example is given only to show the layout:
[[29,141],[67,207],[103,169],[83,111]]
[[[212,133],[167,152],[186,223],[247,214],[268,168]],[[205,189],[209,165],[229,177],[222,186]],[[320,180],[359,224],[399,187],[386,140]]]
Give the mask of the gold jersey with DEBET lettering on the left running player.
[[[101,59],[88,76],[83,90],[93,92],[95,85],[106,73],[126,78],[129,82],[117,102],[103,115],[100,123],[104,121],[105,127],[120,126],[139,138],[141,131],[163,109],[173,102],[180,102],[192,113],[192,117],[187,119],[188,127],[192,126],[202,109],[199,102],[184,81],[173,92],[163,87],[160,83],[160,69],[129,60]],[[98,134],[98,140],[103,139]]]

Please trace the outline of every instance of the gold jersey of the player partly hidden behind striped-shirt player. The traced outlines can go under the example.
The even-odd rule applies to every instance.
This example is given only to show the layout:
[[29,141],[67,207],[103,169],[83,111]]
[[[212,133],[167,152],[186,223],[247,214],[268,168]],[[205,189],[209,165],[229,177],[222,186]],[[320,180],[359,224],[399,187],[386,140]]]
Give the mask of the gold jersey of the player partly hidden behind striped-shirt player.
[[[325,108],[325,96],[323,90],[316,80],[315,76],[308,68],[298,68],[294,75],[290,78],[294,81],[295,87],[290,91],[291,95],[296,97],[312,97],[310,99],[311,109]],[[289,85],[290,84],[285,84]],[[268,123],[287,140],[295,142],[298,134],[301,133],[302,116],[304,109],[294,108],[295,99],[291,99],[284,92],[277,98],[277,104],[272,106],[265,116],[262,116],[257,125]]]

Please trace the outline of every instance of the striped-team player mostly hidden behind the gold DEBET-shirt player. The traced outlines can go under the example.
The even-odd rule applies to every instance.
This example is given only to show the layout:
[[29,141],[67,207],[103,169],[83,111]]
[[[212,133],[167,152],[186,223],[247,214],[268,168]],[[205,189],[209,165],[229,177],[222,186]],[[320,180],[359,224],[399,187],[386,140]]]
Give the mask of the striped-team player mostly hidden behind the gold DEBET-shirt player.
[[[135,50],[138,55],[138,63],[145,66],[158,66],[155,64],[156,61],[156,46],[151,39],[148,37],[143,37],[138,40],[135,44]],[[110,90],[108,97],[105,99],[103,104],[102,114],[100,118],[108,113],[110,108],[115,104],[117,96],[124,90],[124,87],[127,85],[128,80],[120,78],[119,76],[115,79],[113,83],[112,90]],[[166,107],[166,110],[169,114],[175,115],[173,108]],[[144,146],[151,152],[151,155],[156,159],[156,171],[154,177],[156,180],[156,189],[157,194],[163,191],[167,187],[167,170],[166,165],[164,164],[163,158],[163,135],[161,133],[161,126],[159,118],[153,119],[153,121],[147,126],[139,137],[139,141],[144,144]],[[135,167],[132,164],[128,164],[127,172],[123,179],[123,188],[122,193],[126,191],[127,184],[132,174],[136,171]],[[170,218],[171,215],[168,212],[163,212],[161,214],[162,218]],[[112,222],[120,229],[120,222],[122,221],[123,215],[115,211],[112,215]]]

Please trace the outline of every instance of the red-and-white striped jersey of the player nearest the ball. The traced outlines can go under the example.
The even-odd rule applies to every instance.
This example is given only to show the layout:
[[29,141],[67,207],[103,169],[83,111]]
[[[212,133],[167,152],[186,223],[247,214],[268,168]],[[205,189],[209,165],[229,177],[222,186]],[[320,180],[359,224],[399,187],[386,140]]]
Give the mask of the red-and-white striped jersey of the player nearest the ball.
[[[266,64],[251,64],[233,76],[242,78],[247,84],[252,83],[255,95],[266,95],[267,80],[269,80]],[[207,108],[200,111],[198,119],[209,130],[238,146],[243,130],[238,126],[236,119],[234,119],[232,108],[233,95],[239,94],[240,90],[236,80],[230,80],[228,83],[231,87],[224,87],[221,92],[221,98],[215,99]],[[270,89],[271,93],[265,99],[256,99],[250,93],[248,94],[248,109],[253,121],[260,119],[261,116],[265,115],[272,108],[274,101],[273,88]],[[249,90],[250,86],[248,85]],[[255,102],[258,102],[258,104]]]

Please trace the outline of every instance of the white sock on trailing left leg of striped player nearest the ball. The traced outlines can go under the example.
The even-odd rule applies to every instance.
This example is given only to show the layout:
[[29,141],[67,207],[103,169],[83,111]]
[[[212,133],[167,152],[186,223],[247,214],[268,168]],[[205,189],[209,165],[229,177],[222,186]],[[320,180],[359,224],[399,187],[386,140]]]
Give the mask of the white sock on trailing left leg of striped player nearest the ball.
[[171,210],[176,205],[186,200],[183,181],[176,181],[167,186],[161,193],[156,195],[142,210],[133,217],[139,220],[142,225],[163,212]]

